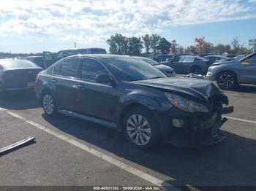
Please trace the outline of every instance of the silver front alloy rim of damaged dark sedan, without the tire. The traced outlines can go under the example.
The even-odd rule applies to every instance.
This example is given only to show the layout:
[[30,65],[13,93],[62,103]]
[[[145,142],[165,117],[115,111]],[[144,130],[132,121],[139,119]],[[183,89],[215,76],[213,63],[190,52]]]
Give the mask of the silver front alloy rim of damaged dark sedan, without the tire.
[[127,120],[127,134],[135,144],[146,145],[151,139],[151,127],[145,117],[132,114]]

